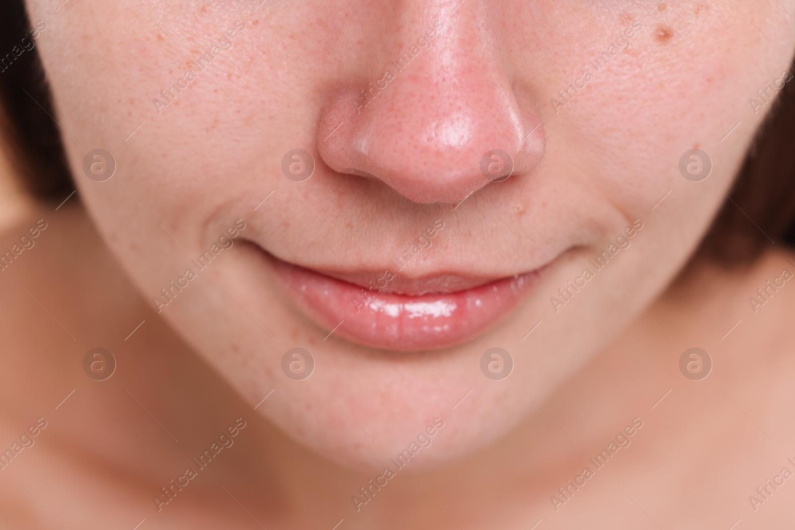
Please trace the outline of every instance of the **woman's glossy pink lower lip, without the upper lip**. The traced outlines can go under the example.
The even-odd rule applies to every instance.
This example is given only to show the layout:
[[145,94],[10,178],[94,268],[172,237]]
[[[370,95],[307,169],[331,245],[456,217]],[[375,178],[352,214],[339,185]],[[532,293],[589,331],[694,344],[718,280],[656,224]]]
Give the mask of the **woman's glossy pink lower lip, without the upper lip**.
[[[301,309],[334,335],[364,346],[416,351],[453,346],[473,340],[518,304],[539,273],[516,277],[458,292],[405,296],[378,292],[324,274],[269,260],[289,295]],[[388,288],[384,274],[373,285]]]

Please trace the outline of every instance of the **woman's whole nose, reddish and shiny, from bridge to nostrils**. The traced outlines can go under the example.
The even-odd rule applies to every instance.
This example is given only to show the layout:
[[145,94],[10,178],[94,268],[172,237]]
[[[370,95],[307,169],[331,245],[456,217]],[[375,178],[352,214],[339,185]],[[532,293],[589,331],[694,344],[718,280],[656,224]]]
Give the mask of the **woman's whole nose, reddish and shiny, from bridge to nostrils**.
[[320,116],[325,163],[380,179],[417,203],[457,202],[535,167],[545,145],[541,118],[484,16],[464,4],[455,16],[382,36],[378,55],[360,65],[382,73],[358,75]]

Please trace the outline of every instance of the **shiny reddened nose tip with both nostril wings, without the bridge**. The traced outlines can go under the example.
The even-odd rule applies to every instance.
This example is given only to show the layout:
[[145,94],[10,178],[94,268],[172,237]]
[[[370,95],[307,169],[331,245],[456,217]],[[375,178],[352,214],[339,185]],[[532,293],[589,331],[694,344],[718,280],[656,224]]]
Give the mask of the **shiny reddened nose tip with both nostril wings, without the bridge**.
[[320,156],[417,203],[460,201],[503,180],[511,165],[514,176],[528,172],[545,144],[533,100],[508,79],[465,74],[385,76],[366,91],[339,91],[320,117]]

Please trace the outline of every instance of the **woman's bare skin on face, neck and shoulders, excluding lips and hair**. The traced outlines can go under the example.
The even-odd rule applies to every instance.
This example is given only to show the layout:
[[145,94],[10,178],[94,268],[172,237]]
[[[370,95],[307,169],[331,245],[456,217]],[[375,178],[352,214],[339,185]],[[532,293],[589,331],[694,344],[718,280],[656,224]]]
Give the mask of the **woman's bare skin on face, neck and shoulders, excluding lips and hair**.
[[[20,352],[2,373],[11,404],[3,439],[37,417],[50,422],[0,472],[11,477],[0,486],[9,524],[332,528],[344,519],[468,530],[539,519],[551,528],[784,520],[795,494],[786,486],[756,511],[747,496],[792,456],[795,432],[780,418],[793,402],[784,354],[795,295],[783,288],[756,313],[747,299],[793,270],[792,256],[770,250],[731,273],[696,264],[672,282],[770,110],[754,114],[748,99],[789,67],[793,2],[267,2],[254,11],[258,2],[72,0],[55,12],[57,3],[28,6],[33,21],[47,21],[37,45],[80,203],[41,206],[2,247],[47,219],[25,265],[15,262],[2,273],[14,279],[0,284],[15,302],[2,309],[3,336]],[[359,87],[381,79],[437,19],[444,29],[432,47],[359,115]],[[231,49],[158,113],[152,100],[238,20],[246,29]],[[642,29],[629,48],[556,109],[550,99],[634,21]],[[479,160],[500,145],[516,172],[487,183]],[[103,183],[83,175],[97,148],[117,163]],[[297,148],[316,161],[302,183],[280,169]],[[696,148],[713,164],[698,183],[679,172],[682,153]],[[246,229],[235,246],[158,313],[153,297],[236,219]],[[281,291],[254,248],[360,273],[382,269],[435,219],[444,233],[409,279],[544,267],[510,314],[444,350],[324,340],[331,330]],[[631,246],[556,311],[550,297],[635,219],[642,229]],[[99,345],[118,358],[118,373],[101,383],[81,366]],[[281,372],[295,346],[316,359],[305,381]],[[503,381],[479,369],[493,346],[514,358]],[[692,346],[715,362],[704,381],[678,371]],[[219,455],[223,465],[157,512],[153,494],[238,417],[246,428]],[[432,446],[357,512],[351,496],[436,417],[444,428]],[[550,495],[636,417],[644,426],[616,465],[556,511]]]

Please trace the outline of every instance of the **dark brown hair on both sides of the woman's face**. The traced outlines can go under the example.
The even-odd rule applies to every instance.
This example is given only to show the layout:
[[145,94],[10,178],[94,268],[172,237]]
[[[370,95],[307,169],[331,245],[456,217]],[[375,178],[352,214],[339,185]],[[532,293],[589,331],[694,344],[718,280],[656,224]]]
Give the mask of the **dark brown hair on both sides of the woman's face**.
[[[36,48],[11,50],[29,37],[23,0],[0,6],[0,126],[25,187],[40,199],[74,189],[47,80]],[[743,166],[694,255],[748,265],[770,242],[795,242],[795,88],[785,84],[754,137]]]

